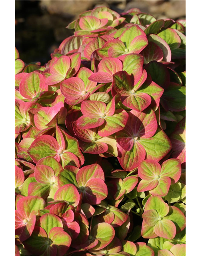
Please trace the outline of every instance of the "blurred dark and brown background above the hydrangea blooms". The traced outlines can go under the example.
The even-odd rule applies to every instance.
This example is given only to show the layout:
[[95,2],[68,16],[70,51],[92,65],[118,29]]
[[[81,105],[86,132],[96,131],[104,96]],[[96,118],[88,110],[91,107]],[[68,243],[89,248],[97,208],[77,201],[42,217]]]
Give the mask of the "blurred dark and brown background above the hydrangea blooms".
[[157,19],[185,18],[185,0],[15,0],[15,46],[24,62],[45,64],[73,30],[81,12],[106,6],[116,12],[139,8]]

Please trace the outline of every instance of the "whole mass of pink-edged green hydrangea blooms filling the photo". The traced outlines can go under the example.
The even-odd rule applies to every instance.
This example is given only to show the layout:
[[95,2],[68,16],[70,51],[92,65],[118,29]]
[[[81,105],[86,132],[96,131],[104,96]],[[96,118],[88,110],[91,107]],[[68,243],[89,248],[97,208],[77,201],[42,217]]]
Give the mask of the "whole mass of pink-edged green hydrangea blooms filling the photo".
[[15,256],[185,255],[185,20],[98,7],[15,49]]

